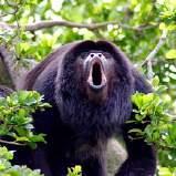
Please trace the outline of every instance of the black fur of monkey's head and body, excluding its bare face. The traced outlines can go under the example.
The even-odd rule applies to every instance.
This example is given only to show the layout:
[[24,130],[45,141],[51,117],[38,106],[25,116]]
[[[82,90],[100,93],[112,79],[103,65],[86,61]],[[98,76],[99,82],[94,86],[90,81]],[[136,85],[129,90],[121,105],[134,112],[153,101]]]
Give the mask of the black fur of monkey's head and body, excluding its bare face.
[[[90,50],[108,52],[114,59],[108,95],[100,104],[87,99],[84,75],[76,71],[77,58]],[[83,41],[61,46],[29,72],[22,89],[39,91],[52,104],[52,108],[34,114],[35,131],[46,134],[48,144],[20,155],[30,158],[25,161],[30,167],[41,168],[46,176],[65,176],[68,167],[79,164],[85,176],[106,176],[106,144],[121,128],[128,158],[116,176],[154,175],[152,146],[144,139],[131,141],[127,131],[133,126],[124,124],[133,117],[131,95],[152,90],[112,43]]]

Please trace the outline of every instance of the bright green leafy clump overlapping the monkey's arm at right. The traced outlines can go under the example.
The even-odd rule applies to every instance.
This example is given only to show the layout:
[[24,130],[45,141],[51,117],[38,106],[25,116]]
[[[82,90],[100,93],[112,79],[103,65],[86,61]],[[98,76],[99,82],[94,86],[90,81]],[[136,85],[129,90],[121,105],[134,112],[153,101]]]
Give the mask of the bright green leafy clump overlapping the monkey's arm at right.
[[[155,145],[161,164],[158,173],[163,175],[162,173],[167,172],[169,175],[169,173],[175,173],[176,169],[176,118],[168,112],[170,100],[161,97],[161,94],[167,87],[158,85],[158,77],[155,77],[153,80],[155,93],[135,93],[132,96],[132,102],[135,104],[133,110],[135,120],[127,123],[146,124],[146,127],[144,131],[133,128],[128,133],[135,133],[137,138],[145,137],[147,143]],[[151,120],[149,124],[148,120]],[[166,166],[168,168],[165,168]]]

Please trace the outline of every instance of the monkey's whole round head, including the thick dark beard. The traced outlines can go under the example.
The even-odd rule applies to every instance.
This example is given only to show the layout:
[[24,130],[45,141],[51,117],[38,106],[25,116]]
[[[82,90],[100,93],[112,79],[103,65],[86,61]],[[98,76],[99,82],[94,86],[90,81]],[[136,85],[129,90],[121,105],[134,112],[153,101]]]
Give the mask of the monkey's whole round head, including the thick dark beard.
[[80,127],[108,126],[130,116],[132,68],[114,44],[83,41],[65,53],[61,62],[55,99],[64,122]]

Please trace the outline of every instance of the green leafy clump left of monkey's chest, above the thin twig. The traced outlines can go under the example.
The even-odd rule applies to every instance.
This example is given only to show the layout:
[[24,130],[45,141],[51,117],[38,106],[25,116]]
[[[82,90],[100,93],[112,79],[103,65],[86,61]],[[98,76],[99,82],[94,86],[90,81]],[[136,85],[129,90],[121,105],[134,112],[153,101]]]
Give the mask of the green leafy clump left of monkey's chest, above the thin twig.
[[[37,147],[44,142],[44,134],[34,134],[31,114],[49,107],[42,103],[43,96],[37,92],[19,91],[0,99],[0,136],[10,138],[12,144],[27,144]],[[2,139],[0,142],[3,142]]]

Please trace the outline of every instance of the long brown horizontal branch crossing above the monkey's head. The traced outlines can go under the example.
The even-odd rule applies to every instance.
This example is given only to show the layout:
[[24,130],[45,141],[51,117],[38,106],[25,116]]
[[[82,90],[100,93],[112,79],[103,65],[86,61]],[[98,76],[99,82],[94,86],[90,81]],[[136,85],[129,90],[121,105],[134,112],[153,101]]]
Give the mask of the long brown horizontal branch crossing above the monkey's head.
[[[80,28],[80,29],[86,28],[89,30],[96,30],[100,28],[105,28],[110,24],[112,24],[112,25],[117,24],[121,28],[128,29],[128,30],[135,30],[135,31],[147,30],[147,29],[152,29],[152,28],[156,27],[156,25],[151,25],[151,24],[149,25],[142,24],[138,27],[130,27],[126,24],[118,23],[117,21],[108,21],[108,22],[100,22],[100,23],[91,23],[91,24],[76,23],[76,22],[71,22],[71,21],[41,21],[41,22],[35,22],[33,24],[27,24],[27,25],[21,25],[21,27],[25,31],[37,31],[37,30],[52,28],[52,27],[68,27],[68,28]],[[10,29],[18,29],[18,25],[0,22],[0,28],[1,29],[9,29],[9,28]]]

